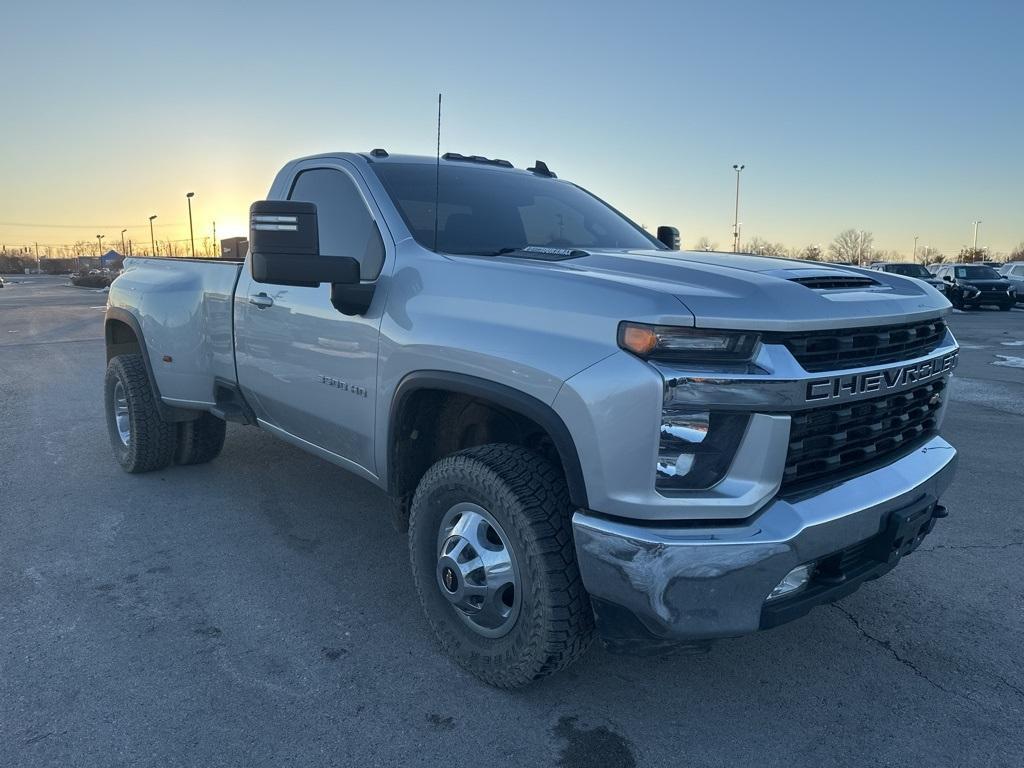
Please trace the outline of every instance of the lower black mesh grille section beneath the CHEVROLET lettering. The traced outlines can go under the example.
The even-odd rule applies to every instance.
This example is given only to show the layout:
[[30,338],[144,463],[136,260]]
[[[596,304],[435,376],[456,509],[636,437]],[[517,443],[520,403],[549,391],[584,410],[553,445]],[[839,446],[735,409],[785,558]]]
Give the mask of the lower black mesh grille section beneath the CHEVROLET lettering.
[[782,489],[843,479],[935,434],[944,388],[939,379],[899,394],[796,412]]

